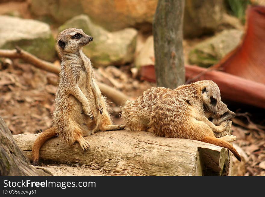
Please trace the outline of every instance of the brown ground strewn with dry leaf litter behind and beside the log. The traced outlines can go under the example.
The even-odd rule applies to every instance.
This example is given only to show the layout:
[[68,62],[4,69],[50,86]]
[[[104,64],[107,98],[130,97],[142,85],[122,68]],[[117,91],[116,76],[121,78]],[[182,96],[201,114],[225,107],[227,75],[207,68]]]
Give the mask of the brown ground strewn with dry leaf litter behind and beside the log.
[[[130,70],[131,65],[122,66],[120,69],[109,66],[95,70],[95,74],[99,81],[116,87],[133,99],[142,91],[155,86],[154,83],[140,81],[137,77],[133,78]],[[39,70],[19,60],[13,61],[12,64],[2,64],[0,67],[0,116],[13,134],[35,133],[37,130],[46,130],[52,125],[56,86],[49,82],[57,79],[55,74]],[[121,124],[120,107],[113,102],[109,102],[109,105],[113,122]],[[241,163],[233,159],[233,174],[265,176],[264,117],[257,120],[258,124],[249,123],[248,117],[253,121],[260,114],[257,113],[256,116],[245,114],[247,108],[234,107],[232,110],[240,115],[239,118],[233,119],[232,134],[238,137],[234,145],[242,156]],[[262,112],[261,110],[260,113]]]

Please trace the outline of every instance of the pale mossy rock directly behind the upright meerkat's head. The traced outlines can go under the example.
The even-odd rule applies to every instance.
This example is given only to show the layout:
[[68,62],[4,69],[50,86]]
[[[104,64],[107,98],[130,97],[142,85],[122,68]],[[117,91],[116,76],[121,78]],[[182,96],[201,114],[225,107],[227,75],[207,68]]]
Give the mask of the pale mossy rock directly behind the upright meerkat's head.
[[79,15],[59,27],[59,32],[67,28],[82,29],[92,36],[93,42],[83,48],[95,67],[121,65],[133,62],[137,31],[133,28],[109,32],[94,24],[87,15]]

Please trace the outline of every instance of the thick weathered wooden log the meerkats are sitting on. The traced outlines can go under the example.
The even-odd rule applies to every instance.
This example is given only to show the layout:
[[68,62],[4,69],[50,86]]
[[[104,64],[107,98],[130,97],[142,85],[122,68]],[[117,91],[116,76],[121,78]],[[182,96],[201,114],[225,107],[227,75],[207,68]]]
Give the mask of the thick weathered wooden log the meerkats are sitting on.
[[[30,160],[37,136],[14,135]],[[45,167],[55,172],[54,175],[193,176],[223,175],[229,171],[228,150],[200,141],[155,137],[148,132],[128,130],[98,132],[85,139],[90,142],[87,151],[83,151],[78,143],[67,147],[61,139],[52,138],[40,149],[40,160],[65,165]],[[77,167],[72,168],[73,165]]]

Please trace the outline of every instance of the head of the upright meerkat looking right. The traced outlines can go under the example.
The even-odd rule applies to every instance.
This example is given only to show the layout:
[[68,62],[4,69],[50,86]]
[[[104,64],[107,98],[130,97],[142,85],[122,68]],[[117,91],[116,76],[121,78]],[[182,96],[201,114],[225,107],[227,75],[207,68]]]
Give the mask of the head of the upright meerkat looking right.
[[57,38],[58,50],[61,53],[73,53],[93,41],[83,30],[69,28],[59,33]]

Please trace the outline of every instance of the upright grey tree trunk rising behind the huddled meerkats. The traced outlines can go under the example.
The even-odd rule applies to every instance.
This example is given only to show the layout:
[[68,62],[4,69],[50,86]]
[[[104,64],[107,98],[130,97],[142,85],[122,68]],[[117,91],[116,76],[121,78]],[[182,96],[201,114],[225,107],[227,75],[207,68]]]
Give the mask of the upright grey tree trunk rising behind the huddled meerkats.
[[159,0],[153,22],[157,86],[175,89],[185,83],[182,50],[183,0]]

